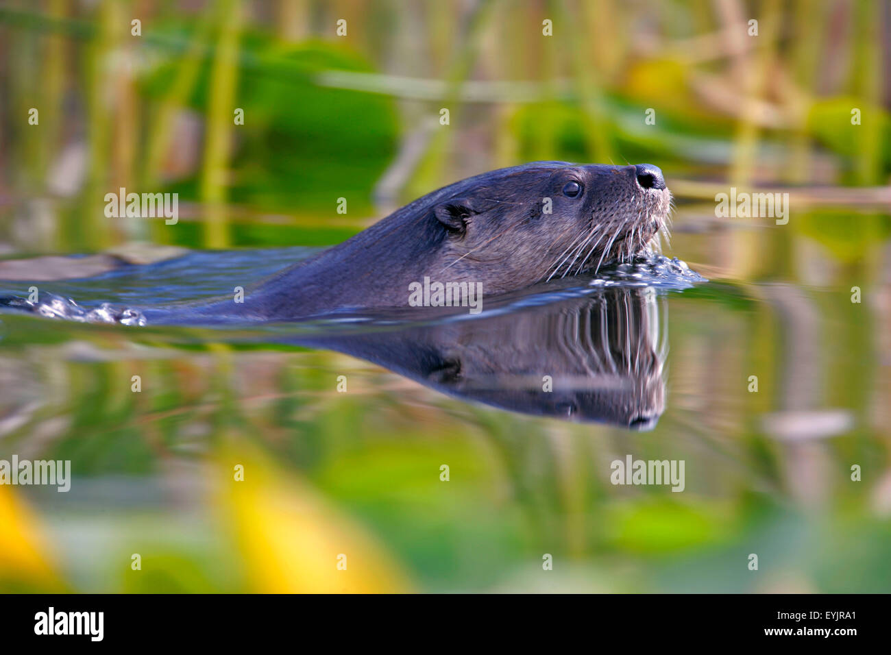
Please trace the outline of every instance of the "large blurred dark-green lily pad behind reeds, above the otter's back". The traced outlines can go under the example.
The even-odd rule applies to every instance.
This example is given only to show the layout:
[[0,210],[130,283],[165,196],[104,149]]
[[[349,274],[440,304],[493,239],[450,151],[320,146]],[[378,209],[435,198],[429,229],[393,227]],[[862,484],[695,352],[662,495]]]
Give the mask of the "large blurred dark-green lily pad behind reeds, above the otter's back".
[[[233,127],[230,200],[335,216],[337,199],[345,197],[351,214],[368,213],[372,188],[396,150],[394,102],[319,86],[317,78],[328,70],[369,72],[370,66],[342,47],[277,45],[257,35],[242,38],[240,62],[236,103],[244,110],[244,125]],[[163,98],[179,64],[168,59],[154,67],[143,81],[143,96]],[[205,58],[187,98],[201,114],[207,109],[209,74]],[[196,171],[170,188],[194,200],[198,184]]]

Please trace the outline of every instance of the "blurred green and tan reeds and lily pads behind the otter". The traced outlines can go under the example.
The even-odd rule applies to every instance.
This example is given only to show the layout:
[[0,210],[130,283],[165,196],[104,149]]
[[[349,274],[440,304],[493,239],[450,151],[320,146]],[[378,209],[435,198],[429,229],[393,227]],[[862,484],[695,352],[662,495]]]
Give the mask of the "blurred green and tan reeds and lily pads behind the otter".
[[[883,6],[11,0],[0,192],[24,209],[0,213],[0,238],[25,251],[302,241],[535,159],[656,161],[681,200],[726,179],[862,186],[858,206],[887,208]],[[203,229],[105,218],[102,197],[121,186],[179,192]],[[21,227],[37,199],[53,220]],[[314,225],[287,229],[301,217]]]

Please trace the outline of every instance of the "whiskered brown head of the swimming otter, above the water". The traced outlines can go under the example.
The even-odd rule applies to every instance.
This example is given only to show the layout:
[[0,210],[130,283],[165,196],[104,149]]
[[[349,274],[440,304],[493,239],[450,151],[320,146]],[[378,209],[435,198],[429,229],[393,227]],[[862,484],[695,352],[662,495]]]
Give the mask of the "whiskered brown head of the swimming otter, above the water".
[[487,293],[629,261],[666,229],[662,171],[536,162],[449,187],[432,214],[445,231],[438,274]]

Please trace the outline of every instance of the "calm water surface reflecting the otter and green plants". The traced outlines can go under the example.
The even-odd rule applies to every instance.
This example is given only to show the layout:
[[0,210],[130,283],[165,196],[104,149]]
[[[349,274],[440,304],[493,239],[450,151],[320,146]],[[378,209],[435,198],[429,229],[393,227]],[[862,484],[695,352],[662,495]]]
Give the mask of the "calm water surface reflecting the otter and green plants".
[[[747,240],[795,248],[717,270]],[[865,269],[808,247],[676,233],[711,282],[658,259],[423,319],[102,324],[307,249],[39,282],[100,324],[0,315],[0,459],[73,473],[0,487],[30,553],[0,583],[274,590],[346,553],[354,589],[887,591],[887,270],[853,303]],[[613,484],[629,455],[683,461],[683,492]]]

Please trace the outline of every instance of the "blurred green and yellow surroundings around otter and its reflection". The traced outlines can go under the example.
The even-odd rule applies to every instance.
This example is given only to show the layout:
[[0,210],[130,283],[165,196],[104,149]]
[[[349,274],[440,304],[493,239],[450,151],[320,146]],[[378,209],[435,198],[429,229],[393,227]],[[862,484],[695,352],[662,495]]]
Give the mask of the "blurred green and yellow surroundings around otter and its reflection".
[[[712,280],[662,301],[641,434],[326,351],[3,315],[0,459],[75,479],[0,487],[0,589],[891,590],[889,108],[888,2],[0,2],[4,291],[323,247],[552,159],[662,168],[666,254]],[[716,217],[731,186],[789,192],[789,224]],[[106,217],[120,187],[177,192],[178,223]],[[625,454],[685,460],[686,490],[613,487]]]

